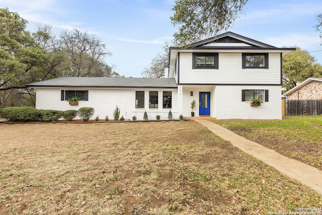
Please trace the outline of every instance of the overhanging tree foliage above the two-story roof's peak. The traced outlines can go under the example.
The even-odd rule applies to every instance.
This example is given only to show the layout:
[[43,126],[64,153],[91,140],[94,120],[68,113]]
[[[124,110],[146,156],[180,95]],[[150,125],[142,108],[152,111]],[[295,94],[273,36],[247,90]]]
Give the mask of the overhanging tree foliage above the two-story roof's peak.
[[174,34],[178,46],[213,36],[233,25],[248,0],[175,0],[171,21],[179,27]]

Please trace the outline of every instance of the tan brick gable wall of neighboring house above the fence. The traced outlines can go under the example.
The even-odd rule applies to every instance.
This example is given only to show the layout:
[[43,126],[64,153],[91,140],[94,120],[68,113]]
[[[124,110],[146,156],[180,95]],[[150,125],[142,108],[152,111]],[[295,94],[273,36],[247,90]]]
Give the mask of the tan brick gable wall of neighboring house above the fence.
[[322,82],[312,81],[287,96],[289,100],[322,99]]

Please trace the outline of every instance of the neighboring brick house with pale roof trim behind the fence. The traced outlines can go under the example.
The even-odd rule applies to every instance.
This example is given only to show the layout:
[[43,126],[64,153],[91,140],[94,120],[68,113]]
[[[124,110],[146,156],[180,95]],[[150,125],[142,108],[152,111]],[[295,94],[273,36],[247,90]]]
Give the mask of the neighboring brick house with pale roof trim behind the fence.
[[283,96],[288,100],[322,99],[322,78],[308,78]]

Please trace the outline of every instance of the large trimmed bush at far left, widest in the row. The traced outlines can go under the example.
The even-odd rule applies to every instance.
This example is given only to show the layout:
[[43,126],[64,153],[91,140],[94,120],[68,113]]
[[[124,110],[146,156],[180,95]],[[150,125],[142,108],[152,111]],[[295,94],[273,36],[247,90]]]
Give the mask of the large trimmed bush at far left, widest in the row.
[[33,107],[8,107],[0,110],[1,117],[10,121],[32,122],[41,120],[41,111]]

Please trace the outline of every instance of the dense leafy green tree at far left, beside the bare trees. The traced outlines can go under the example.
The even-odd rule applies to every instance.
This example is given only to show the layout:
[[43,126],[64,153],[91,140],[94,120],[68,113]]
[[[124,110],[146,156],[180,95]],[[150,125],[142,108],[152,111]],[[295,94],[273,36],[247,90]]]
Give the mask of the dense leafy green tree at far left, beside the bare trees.
[[0,107],[14,100],[10,97],[18,99],[25,93],[17,89],[25,89],[26,84],[49,74],[46,67],[51,56],[35,43],[25,30],[26,24],[19,14],[0,9]]

